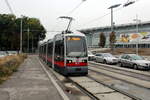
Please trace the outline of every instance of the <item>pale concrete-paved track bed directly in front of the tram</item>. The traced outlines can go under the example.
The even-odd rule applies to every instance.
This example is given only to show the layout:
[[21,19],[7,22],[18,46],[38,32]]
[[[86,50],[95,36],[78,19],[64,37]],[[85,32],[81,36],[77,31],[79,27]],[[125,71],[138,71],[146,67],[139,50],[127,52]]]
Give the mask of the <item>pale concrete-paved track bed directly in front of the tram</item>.
[[68,79],[94,100],[142,100],[99,82],[90,76],[80,77],[78,79],[77,77],[69,77]]

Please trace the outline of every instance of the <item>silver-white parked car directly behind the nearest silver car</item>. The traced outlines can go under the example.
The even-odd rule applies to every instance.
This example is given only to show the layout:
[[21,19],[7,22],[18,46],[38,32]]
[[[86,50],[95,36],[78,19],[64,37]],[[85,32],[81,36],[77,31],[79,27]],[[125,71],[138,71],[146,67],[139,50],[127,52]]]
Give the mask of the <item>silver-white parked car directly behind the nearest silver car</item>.
[[104,64],[117,64],[118,58],[116,58],[115,56],[113,56],[110,53],[97,53],[95,55],[95,61],[101,62]]

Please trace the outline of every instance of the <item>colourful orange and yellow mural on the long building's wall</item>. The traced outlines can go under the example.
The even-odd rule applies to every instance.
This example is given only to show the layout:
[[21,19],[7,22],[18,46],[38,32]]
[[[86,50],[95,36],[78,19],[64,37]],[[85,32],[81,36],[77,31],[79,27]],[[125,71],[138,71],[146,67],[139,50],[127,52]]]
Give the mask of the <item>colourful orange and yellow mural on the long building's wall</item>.
[[150,32],[141,32],[141,33],[123,33],[117,39],[117,42],[136,42],[136,41],[150,41]]

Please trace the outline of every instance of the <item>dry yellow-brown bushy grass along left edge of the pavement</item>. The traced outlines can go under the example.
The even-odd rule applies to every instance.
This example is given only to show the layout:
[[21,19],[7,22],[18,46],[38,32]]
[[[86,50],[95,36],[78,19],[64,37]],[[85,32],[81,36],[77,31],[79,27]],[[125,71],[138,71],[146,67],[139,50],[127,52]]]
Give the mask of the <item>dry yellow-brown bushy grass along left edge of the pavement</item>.
[[0,59],[0,83],[16,72],[19,65],[27,58],[25,54],[7,56]]

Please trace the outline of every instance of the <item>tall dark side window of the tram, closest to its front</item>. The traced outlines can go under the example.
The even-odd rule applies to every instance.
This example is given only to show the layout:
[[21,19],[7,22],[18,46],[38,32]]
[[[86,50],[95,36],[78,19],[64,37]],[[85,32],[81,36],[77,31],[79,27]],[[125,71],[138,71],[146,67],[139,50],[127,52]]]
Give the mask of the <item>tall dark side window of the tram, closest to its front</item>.
[[55,42],[55,61],[64,61],[64,43],[63,41]]

